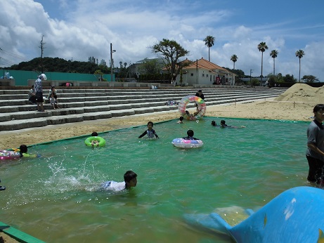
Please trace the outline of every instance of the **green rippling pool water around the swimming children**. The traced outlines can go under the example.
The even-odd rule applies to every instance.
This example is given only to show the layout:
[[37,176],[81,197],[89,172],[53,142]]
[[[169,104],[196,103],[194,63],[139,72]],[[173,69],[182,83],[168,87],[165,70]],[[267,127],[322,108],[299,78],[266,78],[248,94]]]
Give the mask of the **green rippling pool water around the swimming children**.
[[[308,185],[308,122],[226,119],[245,129],[221,129],[219,117],[155,124],[160,139],[137,137],[146,126],[34,145],[40,158],[0,161],[6,190],[1,221],[45,242],[231,242],[188,225],[184,214],[217,212],[231,225],[244,209],[257,210],[280,192]],[[181,149],[174,138],[193,129],[204,145]],[[103,192],[105,180],[138,174],[129,192]]]

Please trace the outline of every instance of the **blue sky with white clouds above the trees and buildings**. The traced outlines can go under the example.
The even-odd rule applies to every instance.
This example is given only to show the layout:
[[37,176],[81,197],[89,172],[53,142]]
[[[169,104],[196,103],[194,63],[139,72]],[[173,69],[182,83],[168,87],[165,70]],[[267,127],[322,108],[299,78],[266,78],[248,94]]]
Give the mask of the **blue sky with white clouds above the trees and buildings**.
[[[323,0],[1,0],[0,67],[41,55],[66,60],[105,60],[110,66],[110,43],[115,66],[157,58],[150,46],[162,39],[177,41],[189,60],[205,58],[205,37],[215,37],[210,61],[253,77],[261,75],[261,52],[266,42],[263,75],[273,73],[272,50],[278,51],[276,74],[324,81]],[[252,70],[252,71],[251,71]]]

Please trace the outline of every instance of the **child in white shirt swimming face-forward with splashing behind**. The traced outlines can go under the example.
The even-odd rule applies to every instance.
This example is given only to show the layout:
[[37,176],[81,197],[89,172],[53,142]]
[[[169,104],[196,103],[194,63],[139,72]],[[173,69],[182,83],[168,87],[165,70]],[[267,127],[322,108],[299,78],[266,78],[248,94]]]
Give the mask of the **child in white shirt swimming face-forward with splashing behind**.
[[124,181],[116,182],[113,180],[105,181],[101,184],[104,190],[111,190],[119,192],[124,189],[134,188],[137,185],[137,174],[133,171],[126,171],[124,173]]

